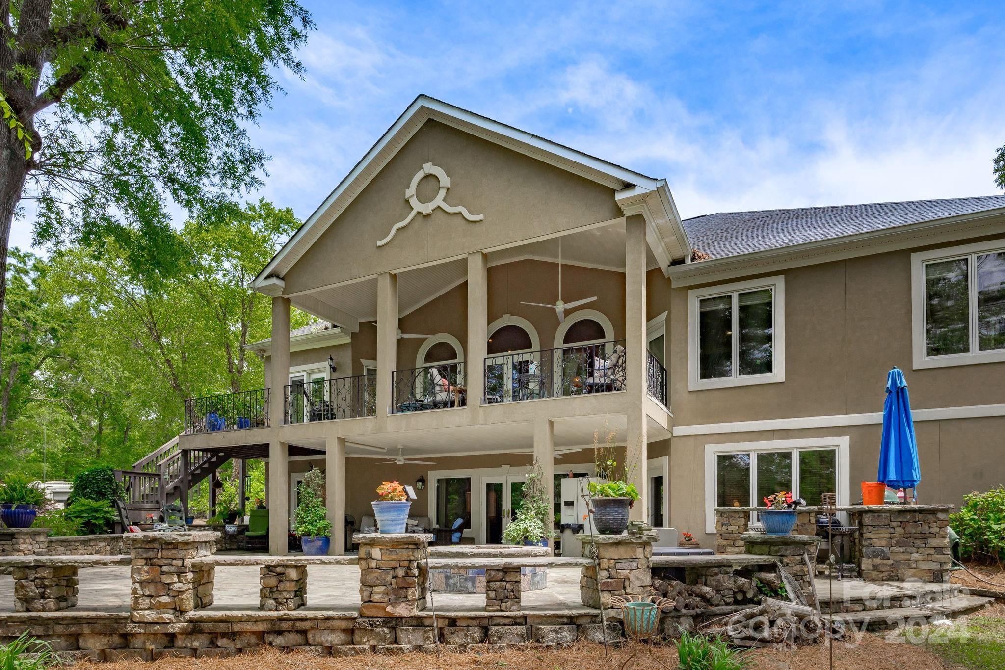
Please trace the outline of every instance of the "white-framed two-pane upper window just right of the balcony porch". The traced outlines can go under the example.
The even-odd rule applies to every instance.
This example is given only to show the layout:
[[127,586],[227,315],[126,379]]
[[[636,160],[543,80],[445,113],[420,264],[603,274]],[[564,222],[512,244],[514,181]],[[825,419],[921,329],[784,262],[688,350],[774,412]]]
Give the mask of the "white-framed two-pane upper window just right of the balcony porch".
[[687,388],[785,381],[785,277],[687,291]]

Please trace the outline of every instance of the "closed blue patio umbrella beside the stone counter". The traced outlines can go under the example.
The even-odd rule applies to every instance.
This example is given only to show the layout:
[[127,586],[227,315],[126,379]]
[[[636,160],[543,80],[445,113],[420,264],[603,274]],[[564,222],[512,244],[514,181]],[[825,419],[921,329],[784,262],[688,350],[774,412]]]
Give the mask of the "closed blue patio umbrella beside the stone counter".
[[[915,488],[922,480],[918,441],[911,417],[911,398],[903,373],[893,368],[886,376],[886,402],[882,409],[879,473],[876,481],[890,488]],[[904,499],[907,501],[907,498]]]

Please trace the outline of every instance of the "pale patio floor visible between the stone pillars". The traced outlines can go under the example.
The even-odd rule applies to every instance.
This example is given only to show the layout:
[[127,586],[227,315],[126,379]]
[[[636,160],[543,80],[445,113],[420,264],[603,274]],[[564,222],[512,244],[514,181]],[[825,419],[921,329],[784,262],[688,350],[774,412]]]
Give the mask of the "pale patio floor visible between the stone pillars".
[[[593,612],[579,600],[578,568],[549,568],[548,588],[524,594],[524,611]],[[77,611],[129,612],[128,566],[83,568],[79,573]],[[258,568],[218,567],[213,585],[213,605],[204,611],[226,612],[258,609]],[[478,611],[485,597],[434,594],[437,611]],[[360,606],[360,569],[356,566],[312,566],[308,569],[308,606],[305,611],[356,612]],[[14,611],[14,580],[0,575],[0,613]],[[70,610],[72,611],[72,610]]]

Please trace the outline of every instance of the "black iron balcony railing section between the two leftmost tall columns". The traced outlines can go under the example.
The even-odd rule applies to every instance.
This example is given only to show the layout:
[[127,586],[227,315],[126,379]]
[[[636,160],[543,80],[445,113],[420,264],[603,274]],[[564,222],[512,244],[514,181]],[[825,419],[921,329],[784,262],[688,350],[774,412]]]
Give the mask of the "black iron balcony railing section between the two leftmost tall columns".
[[377,414],[377,384],[373,375],[291,384],[282,391],[287,424],[334,419],[358,419]]

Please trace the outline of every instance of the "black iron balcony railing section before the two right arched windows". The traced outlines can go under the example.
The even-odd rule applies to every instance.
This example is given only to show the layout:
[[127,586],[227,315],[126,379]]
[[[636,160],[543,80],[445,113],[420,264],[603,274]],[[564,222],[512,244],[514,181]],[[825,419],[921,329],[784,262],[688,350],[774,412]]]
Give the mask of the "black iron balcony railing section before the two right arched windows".
[[623,391],[623,340],[485,359],[485,404]]

